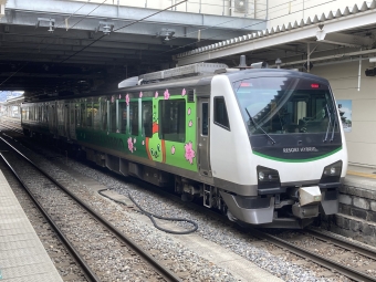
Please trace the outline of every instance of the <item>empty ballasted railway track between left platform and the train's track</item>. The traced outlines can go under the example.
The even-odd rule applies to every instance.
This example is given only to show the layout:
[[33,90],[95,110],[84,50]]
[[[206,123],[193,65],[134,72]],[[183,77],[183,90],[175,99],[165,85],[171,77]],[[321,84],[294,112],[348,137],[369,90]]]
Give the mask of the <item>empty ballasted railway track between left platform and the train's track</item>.
[[[179,276],[66,189],[64,179],[48,175],[9,143],[7,144],[11,152],[1,153],[1,157],[30,191],[31,197],[38,202],[44,216],[50,219],[59,236],[65,238],[64,241],[70,252],[85,270],[90,281],[113,281],[116,275],[109,272],[116,270],[104,263],[112,260],[113,265],[124,265],[122,270],[117,270],[123,274],[122,279],[126,274],[130,280],[181,281]],[[65,236],[72,231],[77,234]],[[129,269],[128,264],[134,269]]]

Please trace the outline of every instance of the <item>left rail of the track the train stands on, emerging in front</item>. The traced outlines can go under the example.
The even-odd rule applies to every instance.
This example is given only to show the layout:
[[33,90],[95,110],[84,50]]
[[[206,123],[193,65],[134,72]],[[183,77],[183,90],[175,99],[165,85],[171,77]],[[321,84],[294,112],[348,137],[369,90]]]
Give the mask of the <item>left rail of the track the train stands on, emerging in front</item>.
[[259,237],[260,239],[267,239],[268,241],[272,242],[273,244],[286,249],[288,251],[302,257],[307,258],[311,261],[327,268],[330,270],[335,270],[336,272],[352,279],[355,281],[363,281],[363,282],[376,282],[376,278],[367,275],[361,271],[357,271],[356,269],[353,269],[351,267],[345,267],[341,264],[340,262],[336,262],[334,260],[327,259],[323,255],[316,254],[310,250],[306,250],[304,248],[297,247],[293,243],[290,243],[281,238],[278,238],[275,236],[262,232],[257,229],[251,229],[251,234]]

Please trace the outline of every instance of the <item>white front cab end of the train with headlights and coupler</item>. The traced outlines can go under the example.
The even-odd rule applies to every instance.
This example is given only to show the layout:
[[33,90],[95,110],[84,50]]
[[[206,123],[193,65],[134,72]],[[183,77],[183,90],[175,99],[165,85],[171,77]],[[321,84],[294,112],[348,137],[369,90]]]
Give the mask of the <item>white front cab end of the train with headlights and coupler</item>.
[[229,218],[303,228],[336,213],[347,149],[328,82],[248,70],[211,86],[211,168]]

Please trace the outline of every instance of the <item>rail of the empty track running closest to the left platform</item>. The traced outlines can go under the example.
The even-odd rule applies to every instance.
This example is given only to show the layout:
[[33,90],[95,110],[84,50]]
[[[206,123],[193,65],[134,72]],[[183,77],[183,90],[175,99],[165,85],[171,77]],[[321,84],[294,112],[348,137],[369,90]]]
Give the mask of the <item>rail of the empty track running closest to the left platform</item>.
[[7,158],[3,156],[2,153],[0,153],[0,157],[2,160],[7,164],[9,169],[12,171],[12,174],[15,176],[15,178],[19,180],[19,182],[22,185],[29,197],[32,199],[36,208],[40,210],[40,212],[43,215],[43,217],[48,220],[49,224],[53,228],[53,230],[56,232],[58,237],[61,239],[61,241],[64,243],[65,248],[69,250],[70,254],[75,259],[75,261],[80,264],[82,270],[84,271],[84,275],[87,280],[94,281],[94,282],[101,282],[101,280],[96,276],[96,274],[92,271],[92,269],[87,265],[85,260],[81,257],[81,254],[77,252],[77,250],[71,244],[71,242],[67,240],[67,238],[64,236],[64,233],[61,231],[61,229],[55,224],[53,219],[49,216],[49,213],[45,211],[45,209],[42,207],[42,205],[36,200],[36,198],[32,195],[28,186],[24,184],[24,181],[21,179],[21,177],[17,174],[17,171],[13,169],[12,165],[9,164]]

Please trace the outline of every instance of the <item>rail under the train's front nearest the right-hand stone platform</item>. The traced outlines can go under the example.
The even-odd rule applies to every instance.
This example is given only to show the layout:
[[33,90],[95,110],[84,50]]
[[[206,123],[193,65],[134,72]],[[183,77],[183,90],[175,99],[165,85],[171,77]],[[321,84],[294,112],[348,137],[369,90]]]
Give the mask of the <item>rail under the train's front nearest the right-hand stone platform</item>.
[[367,258],[376,261],[376,251],[373,251],[370,249],[366,249],[363,246],[356,244],[354,242],[349,242],[347,240],[344,240],[344,239],[341,239],[341,238],[337,238],[337,237],[334,237],[334,236],[331,236],[331,234],[321,233],[321,232],[313,230],[313,229],[307,229],[307,230],[304,230],[302,232],[306,232],[310,236],[315,237],[320,240],[323,240],[327,243],[333,243],[335,246],[347,249],[349,251],[355,251],[355,252],[357,252],[357,253],[359,253],[364,257],[367,257]]

